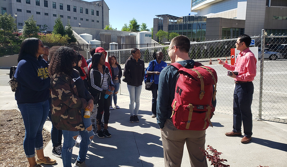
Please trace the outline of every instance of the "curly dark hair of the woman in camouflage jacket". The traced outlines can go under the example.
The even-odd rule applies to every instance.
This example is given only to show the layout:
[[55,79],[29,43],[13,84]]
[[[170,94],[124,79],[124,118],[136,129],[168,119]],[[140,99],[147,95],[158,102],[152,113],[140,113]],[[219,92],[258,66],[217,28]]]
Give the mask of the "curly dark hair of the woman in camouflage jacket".
[[51,58],[51,62],[49,64],[50,76],[53,76],[58,72],[64,72],[67,75],[71,75],[73,64],[77,61],[77,52],[69,47],[60,47]]

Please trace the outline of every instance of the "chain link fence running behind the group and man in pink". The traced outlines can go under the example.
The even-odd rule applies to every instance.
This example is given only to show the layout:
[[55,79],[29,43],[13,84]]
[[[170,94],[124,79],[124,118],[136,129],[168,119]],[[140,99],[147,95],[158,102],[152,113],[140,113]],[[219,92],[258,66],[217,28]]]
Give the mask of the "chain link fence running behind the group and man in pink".
[[[286,43],[287,36],[255,36],[254,46],[258,47],[258,60],[257,60],[257,74],[253,81],[254,94],[252,102],[252,114],[257,119],[272,120],[277,122],[287,122],[287,59],[286,59],[286,45],[278,44],[272,45],[273,39],[280,39],[281,43]],[[265,40],[266,39],[266,40]],[[237,39],[226,39],[216,41],[205,41],[191,43],[189,50],[189,57],[197,62],[201,62],[204,66],[210,66],[217,72],[217,105],[216,112],[233,113],[233,92],[234,80],[227,76],[226,68],[217,63],[217,58],[223,59],[231,63],[231,49],[235,48]],[[263,43],[262,43],[263,41]],[[141,59],[145,62],[145,67],[148,62],[153,60],[152,54],[156,51],[162,51],[164,54],[164,61],[170,63],[170,58],[166,49],[169,46],[156,46],[156,47],[142,47]],[[265,48],[262,49],[262,48]],[[274,48],[274,49],[272,49]],[[264,50],[264,52],[261,52]],[[285,55],[284,55],[285,54]],[[122,49],[108,51],[108,55],[115,55],[122,69],[126,60],[131,55],[131,49]],[[261,56],[264,59],[261,59]],[[210,59],[212,64],[210,64]],[[151,91],[144,89],[144,83],[141,91],[141,98],[152,99]],[[122,95],[129,95],[127,84],[122,82],[119,93]],[[148,109],[148,110],[151,110]]]

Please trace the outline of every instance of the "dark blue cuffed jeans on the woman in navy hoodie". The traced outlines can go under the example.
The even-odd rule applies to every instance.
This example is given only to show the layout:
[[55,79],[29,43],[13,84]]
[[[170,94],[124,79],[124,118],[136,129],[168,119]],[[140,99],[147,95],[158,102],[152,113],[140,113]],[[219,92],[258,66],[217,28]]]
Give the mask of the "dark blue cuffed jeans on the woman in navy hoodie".
[[42,129],[49,113],[49,101],[18,104],[25,126],[23,142],[27,158],[35,156],[36,150],[43,149]]

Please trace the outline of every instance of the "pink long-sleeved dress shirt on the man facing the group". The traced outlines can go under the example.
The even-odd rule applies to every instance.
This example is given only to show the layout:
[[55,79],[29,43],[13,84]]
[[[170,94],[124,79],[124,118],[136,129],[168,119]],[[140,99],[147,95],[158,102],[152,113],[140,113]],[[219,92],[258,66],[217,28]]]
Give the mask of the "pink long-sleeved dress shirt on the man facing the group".
[[256,58],[249,48],[240,52],[237,56],[236,63],[224,64],[227,70],[238,71],[235,81],[253,81],[256,76]]

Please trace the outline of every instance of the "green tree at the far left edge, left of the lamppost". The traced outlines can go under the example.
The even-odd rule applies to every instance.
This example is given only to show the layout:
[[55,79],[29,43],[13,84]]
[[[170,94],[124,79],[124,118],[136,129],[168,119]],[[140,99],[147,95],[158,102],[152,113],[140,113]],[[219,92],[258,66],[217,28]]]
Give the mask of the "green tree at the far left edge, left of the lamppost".
[[15,19],[11,14],[1,14],[0,15],[0,43],[7,44],[13,40],[13,32],[17,30]]

